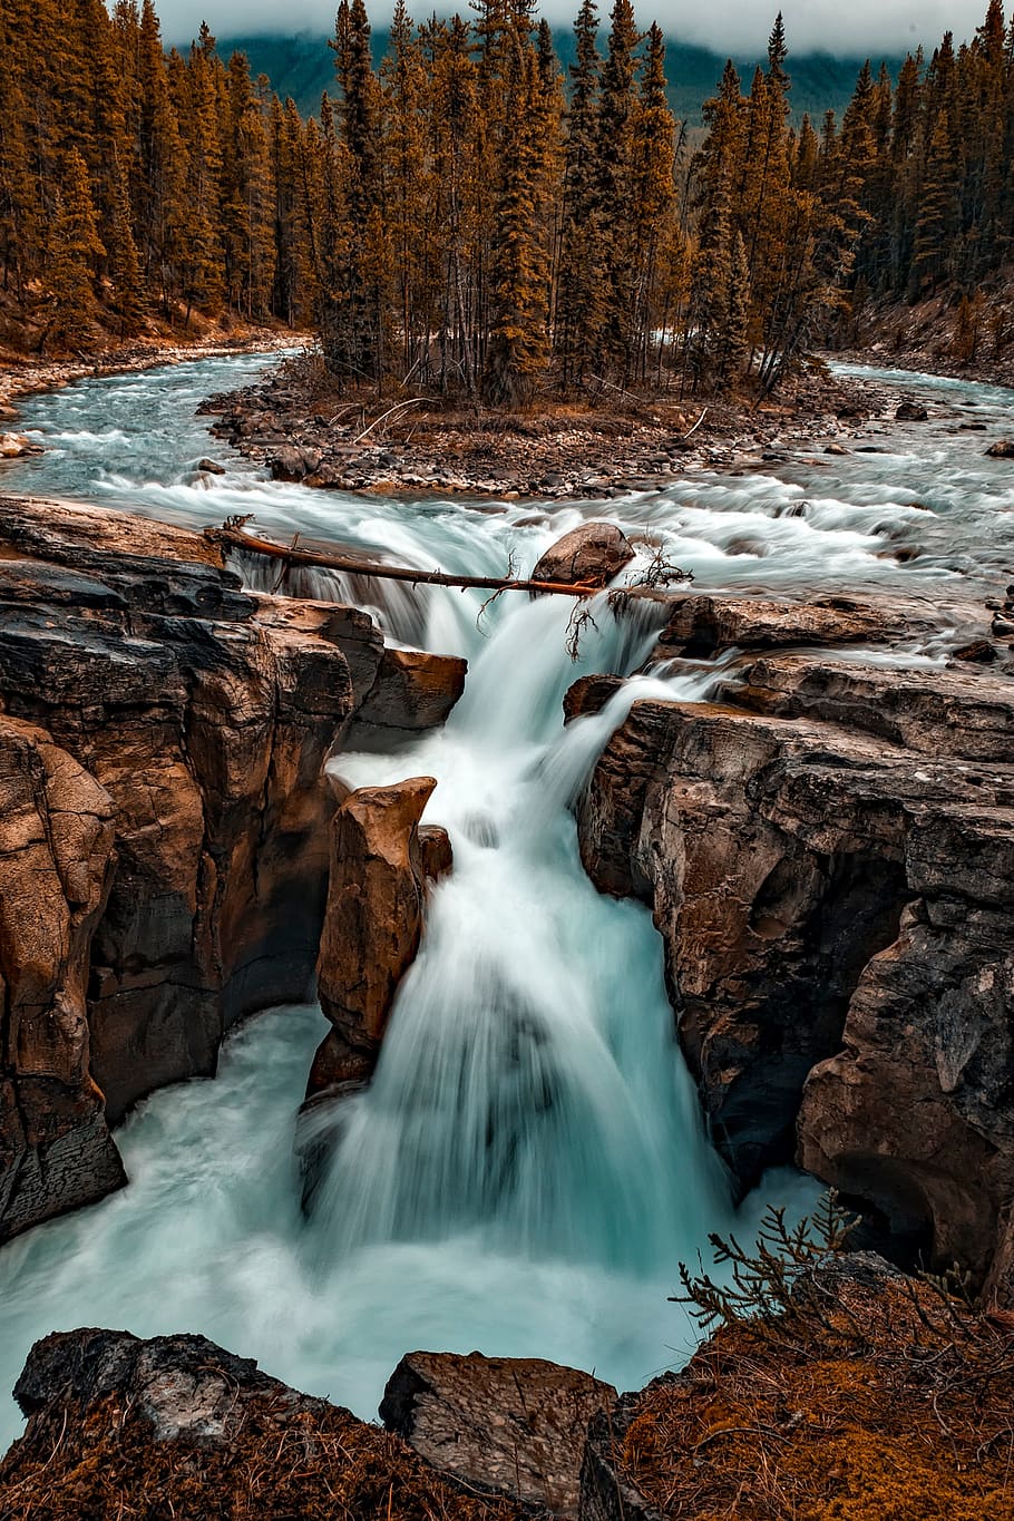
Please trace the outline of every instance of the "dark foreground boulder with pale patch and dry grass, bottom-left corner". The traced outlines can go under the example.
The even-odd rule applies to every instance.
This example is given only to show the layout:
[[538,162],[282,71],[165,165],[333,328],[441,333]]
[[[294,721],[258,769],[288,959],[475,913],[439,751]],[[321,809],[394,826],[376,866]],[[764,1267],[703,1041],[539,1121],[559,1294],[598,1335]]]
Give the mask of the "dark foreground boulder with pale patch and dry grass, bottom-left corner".
[[32,1348],[15,1396],[27,1428],[0,1465],[8,1521],[518,1515],[506,1500],[462,1495],[400,1437],[199,1335],[49,1335]]

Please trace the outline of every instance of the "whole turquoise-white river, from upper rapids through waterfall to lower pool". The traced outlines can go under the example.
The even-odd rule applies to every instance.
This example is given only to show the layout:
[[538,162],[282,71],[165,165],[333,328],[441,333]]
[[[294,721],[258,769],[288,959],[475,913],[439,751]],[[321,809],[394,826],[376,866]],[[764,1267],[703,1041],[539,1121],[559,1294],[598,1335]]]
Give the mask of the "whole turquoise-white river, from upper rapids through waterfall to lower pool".
[[[927,399],[933,423],[874,426],[863,447],[877,452],[847,459],[800,452],[608,503],[497,510],[265,481],[195,417],[261,367],[198,360],[32,399],[20,426],[46,452],[3,468],[0,490],[190,526],[254,513],[269,534],[493,575],[608,516],[661,540],[699,590],[889,589],[933,602],[944,630],[949,607],[1014,578],[1014,475],[984,458],[1011,421],[999,388],[863,371]],[[196,470],[208,453],[227,475]],[[296,589],[350,590],[324,573]],[[552,598],[480,613],[479,593],[395,589],[374,611],[392,639],[465,654],[467,691],[444,732],[334,767],[353,785],[435,776],[427,820],[448,829],[455,872],[432,896],[371,1089],[322,1119],[336,1151],[321,1208],[299,1212],[293,1133],[325,1025],[316,1008],[275,1010],[231,1036],[213,1083],[138,1106],[117,1132],[123,1192],[0,1252],[0,1448],[18,1431],[6,1392],[32,1340],[74,1325],[201,1331],[365,1418],[417,1348],[549,1357],[632,1387],[693,1343],[667,1302],[678,1262],[707,1253],[710,1230],[749,1237],[766,1200],[815,1197],[780,1173],[733,1209],[651,917],[600,897],[578,859],[569,803],[611,729],[639,695],[705,701],[713,669],[639,678],[564,732],[567,686],[635,669],[651,622],[597,605],[572,663],[570,607]],[[944,646],[946,634],[905,659]]]

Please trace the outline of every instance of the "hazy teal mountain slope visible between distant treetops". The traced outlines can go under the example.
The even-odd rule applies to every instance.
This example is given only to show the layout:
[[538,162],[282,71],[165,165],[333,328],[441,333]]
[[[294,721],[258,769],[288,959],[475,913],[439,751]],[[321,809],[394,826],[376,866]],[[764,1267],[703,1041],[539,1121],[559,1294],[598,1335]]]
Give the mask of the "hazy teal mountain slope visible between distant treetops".
[[[553,41],[561,62],[570,62],[573,33],[570,30],[555,32]],[[386,47],[388,32],[374,32],[377,61]],[[321,94],[334,87],[334,55],[324,37],[230,37],[219,41],[219,53],[223,58],[228,58],[234,50],[246,53],[254,75],[268,75],[283,99],[292,96],[304,116],[316,116]],[[753,58],[736,59],[743,79],[743,91],[749,90],[757,62],[759,59]],[[897,75],[902,59],[888,58],[886,62],[891,73]],[[701,105],[715,94],[724,64],[722,55],[710,53],[704,47],[669,43],[669,102],[675,114],[686,120],[690,128],[699,126]],[[879,68],[880,59],[873,59],[873,64],[874,68]],[[832,110],[841,117],[851,97],[860,67],[860,58],[832,58],[827,53],[789,56],[795,116],[801,117],[804,111],[809,111],[818,120],[824,111]]]

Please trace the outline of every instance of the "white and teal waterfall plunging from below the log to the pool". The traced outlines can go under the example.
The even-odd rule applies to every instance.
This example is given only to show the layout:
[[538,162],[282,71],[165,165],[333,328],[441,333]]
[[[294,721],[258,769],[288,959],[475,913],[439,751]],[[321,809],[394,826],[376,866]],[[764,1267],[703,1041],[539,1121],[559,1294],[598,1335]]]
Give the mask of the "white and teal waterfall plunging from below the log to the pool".
[[[339,1136],[316,1196],[325,1255],[476,1229],[532,1255],[658,1272],[727,1209],[657,937],[578,859],[567,803],[622,713],[614,703],[558,738],[569,611],[550,598],[508,611],[444,733],[410,756],[334,762],[354,785],[406,767],[436,776],[426,817],[448,829],[455,868],[371,1088],[313,1115],[318,1138],[328,1122]],[[605,599],[597,622],[582,663],[622,668],[629,627]]]

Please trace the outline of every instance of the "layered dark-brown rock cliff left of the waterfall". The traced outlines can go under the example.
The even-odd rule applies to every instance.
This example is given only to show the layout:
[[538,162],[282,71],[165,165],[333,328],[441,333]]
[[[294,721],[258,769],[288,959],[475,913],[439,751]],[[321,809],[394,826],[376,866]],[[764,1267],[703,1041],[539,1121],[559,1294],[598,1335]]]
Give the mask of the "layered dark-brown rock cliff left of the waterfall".
[[[366,614],[248,595],[199,534],[8,499],[0,555],[5,785],[24,794],[23,826],[5,818],[2,1240],[119,1177],[102,1107],[213,1074],[236,1019],[306,999],[324,762],[368,698],[415,730],[453,694],[432,700],[423,656],[423,695],[400,668],[385,697]],[[46,900],[18,885],[43,879]]]

